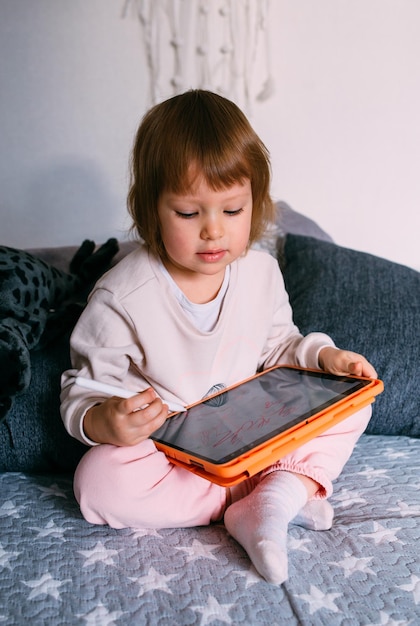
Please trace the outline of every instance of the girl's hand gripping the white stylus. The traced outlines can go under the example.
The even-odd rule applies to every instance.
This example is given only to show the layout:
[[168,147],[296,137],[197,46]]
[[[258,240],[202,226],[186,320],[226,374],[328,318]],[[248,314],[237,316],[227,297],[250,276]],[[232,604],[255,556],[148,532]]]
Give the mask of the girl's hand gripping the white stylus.
[[83,429],[96,443],[134,446],[162,426],[168,413],[168,406],[149,388],[132,398],[113,396],[93,406],[85,415]]

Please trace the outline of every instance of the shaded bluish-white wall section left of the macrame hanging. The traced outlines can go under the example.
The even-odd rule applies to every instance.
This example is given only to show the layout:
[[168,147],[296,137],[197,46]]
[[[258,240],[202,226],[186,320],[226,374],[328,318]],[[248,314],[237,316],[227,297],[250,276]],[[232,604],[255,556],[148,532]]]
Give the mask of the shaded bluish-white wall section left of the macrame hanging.
[[146,75],[122,6],[0,0],[1,243],[123,236]]

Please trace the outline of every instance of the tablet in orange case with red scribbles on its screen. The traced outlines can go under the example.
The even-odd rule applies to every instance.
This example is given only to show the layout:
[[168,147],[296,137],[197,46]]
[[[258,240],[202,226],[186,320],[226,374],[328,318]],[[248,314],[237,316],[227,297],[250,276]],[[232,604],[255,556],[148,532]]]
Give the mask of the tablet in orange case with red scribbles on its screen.
[[372,403],[382,390],[376,379],[275,366],[174,414],[151,438],[173,463],[231,486]]

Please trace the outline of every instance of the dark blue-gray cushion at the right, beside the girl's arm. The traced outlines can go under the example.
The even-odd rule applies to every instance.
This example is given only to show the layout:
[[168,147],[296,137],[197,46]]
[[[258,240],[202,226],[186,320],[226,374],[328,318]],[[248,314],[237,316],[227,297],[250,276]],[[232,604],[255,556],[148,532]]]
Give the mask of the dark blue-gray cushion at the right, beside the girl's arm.
[[280,263],[294,320],[364,354],[385,390],[367,432],[420,436],[420,273],[370,254],[288,234]]

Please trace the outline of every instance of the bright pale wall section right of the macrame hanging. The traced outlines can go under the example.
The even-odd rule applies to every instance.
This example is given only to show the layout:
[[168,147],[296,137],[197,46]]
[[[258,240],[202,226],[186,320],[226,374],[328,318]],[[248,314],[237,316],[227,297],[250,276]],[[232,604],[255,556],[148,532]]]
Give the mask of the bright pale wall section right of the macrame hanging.
[[260,128],[275,194],[342,245],[420,269],[420,2],[273,5],[278,91]]

